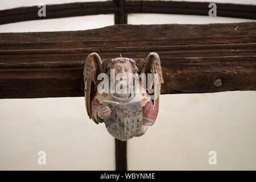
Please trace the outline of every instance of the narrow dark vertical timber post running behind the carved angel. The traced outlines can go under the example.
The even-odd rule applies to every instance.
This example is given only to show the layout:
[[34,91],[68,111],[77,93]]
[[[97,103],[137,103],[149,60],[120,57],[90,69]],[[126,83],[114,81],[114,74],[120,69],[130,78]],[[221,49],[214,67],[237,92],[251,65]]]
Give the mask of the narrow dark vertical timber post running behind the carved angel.
[[[124,13],[125,0],[115,0],[119,11],[115,13],[115,24],[127,24],[127,14]],[[115,170],[127,170],[127,142],[115,139]]]

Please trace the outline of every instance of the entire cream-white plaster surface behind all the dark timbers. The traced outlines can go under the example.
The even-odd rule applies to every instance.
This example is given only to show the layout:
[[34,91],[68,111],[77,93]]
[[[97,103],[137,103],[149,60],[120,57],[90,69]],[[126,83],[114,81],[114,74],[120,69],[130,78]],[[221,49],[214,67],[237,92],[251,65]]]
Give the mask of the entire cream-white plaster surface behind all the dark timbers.
[[[53,3],[0,1],[1,9],[38,2]],[[241,21],[250,20],[129,15],[132,24]],[[79,16],[0,25],[0,32],[86,30],[111,24],[113,15]],[[240,91],[161,96],[154,126],[128,142],[128,169],[256,169],[255,101],[256,92]],[[104,125],[89,121],[82,97],[0,100],[0,145],[0,169],[113,170],[115,165],[114,139]],[[45,166],[37,163],[40,150],[47,154]],[[217,152],[216,166],[208,164],[210,150]]]

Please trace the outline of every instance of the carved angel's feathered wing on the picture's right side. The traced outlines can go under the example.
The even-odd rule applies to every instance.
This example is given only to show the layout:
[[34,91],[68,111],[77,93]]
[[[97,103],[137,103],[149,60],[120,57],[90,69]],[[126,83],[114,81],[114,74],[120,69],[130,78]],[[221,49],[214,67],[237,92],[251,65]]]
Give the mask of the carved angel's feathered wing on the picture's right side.
[[[160,63],[160,57],[158,53],[155,52],[150,52],[147,55],[146,61],[144,61],[144,69],[143,72],[146,73],[152,73],[152,80],[151,80],[151,86],[156,86],[158,88],[158,97],[153,100],[154,107],[155,107],[155,119],[158,115],[158,110],[159,110],[159,101],[160,101],[160,90],[161,90],[161,84],[163,84],[163,75],[162,75],[162,68],[161,68],[161,63]],[[156,74],[157,73],[157,74]],[[156,79],[156,84],[154,85],[154,78]]]

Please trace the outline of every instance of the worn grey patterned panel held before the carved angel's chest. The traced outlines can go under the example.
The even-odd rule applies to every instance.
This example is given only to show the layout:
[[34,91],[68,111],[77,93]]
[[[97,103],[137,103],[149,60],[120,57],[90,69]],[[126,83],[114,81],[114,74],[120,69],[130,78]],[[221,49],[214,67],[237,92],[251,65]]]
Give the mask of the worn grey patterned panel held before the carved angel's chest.
[[122,104],[113,101],[103,101],[103,105],[109,106],[112,113],[105,119],[108,132],[122,141],[133,138],[142,127],[141,102]]

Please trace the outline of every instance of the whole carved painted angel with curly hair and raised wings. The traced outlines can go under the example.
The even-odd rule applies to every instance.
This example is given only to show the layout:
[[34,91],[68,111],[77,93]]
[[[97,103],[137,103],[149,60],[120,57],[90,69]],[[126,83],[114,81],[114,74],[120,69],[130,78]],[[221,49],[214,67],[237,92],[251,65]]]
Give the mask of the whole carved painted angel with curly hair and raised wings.
[[127,57],[117,57],[105,65],[93,52],[85,61],[85,105],[89,118],[97,124],[104,122],[109,133],[119,140],[143,135],[158,115],[163,83],[160,58],[151,52],[142,61],[141,73],[136,62]]

